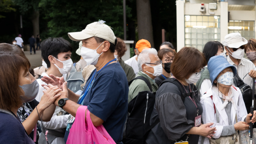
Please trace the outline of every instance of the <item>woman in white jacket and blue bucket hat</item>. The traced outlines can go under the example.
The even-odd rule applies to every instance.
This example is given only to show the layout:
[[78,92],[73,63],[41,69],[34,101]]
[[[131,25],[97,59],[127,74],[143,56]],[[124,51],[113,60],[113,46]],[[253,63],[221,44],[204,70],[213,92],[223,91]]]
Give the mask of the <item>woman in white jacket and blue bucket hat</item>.
[[[252,114],[247,114],[239,88],[232,86],[237,70],[228,63],[224,56],[210,58],[208,70],[212,87],[200,101],[203,107],[202,121],[204,123],[213,122],[211,127],[216,127],[217,130],[212,139],[200,136],[199,144],[220,141],[222,136],[230,136],[230,140],[233,139],[234,144],[239,144],[237,131],[240,130],[242,133],[248,131],[248,123],[250,123]],[[256,111],[254,111],[251,122],[256,122]]]

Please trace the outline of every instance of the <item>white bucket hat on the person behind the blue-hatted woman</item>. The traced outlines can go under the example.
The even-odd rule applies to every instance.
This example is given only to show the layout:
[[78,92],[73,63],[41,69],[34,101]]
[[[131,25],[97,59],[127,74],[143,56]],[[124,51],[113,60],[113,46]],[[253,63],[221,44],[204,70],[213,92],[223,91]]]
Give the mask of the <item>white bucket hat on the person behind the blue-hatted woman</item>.
[[248,43],[248,40],[242,38],[239,32],[234,32],[231,34],[227,34],[225,36],[225,41],[222,42],[223,46],[227,46],[229,48],[239,48],[242,45]]

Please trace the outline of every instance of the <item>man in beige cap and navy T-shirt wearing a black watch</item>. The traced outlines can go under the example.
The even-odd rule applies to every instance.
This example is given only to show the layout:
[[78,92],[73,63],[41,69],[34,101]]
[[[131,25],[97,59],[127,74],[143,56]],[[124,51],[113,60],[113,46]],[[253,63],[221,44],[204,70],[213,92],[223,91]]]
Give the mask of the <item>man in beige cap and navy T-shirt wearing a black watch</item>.
[[[96,69],[90,75],[82,95],[76,95],[66,88],[66,82],[53,77],[46,83],[58,85],[62,95],[54,104],[72,116],[79,106],[88,106],[94,126],[103,124],[116,144],[122,144],[122,132],[128,108],[128,82],[126,74],[114,58],[116,37],[104,21],[88,24],[82,32],[70,32],[71,40],[82,41],[81,56]],[[85,118],[86,119],[86,118]],[[65,142],[73,121],[68,123]]]

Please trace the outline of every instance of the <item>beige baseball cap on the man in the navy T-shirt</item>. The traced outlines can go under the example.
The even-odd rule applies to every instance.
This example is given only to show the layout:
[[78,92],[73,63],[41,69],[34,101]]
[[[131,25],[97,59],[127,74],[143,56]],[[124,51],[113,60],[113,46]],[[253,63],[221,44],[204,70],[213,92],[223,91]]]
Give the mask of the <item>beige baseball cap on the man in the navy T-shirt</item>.
[[115,44],[116,36],[113,30],[108,25],[102,23],[102,21],[88,24],[81,32],[68,33],[68,37],[74,41],[81,41],[93,36],[103,38],[104,40],[108,40],[112,44]]

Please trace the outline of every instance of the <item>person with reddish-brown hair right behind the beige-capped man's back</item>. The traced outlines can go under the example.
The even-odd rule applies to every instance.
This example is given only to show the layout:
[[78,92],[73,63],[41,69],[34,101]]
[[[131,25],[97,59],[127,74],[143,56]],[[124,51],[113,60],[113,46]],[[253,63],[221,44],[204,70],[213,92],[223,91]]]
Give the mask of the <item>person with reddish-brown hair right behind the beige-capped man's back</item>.
[[134,70],[132,69],[131,66],[124,63],[124,61],[122,60],[122,56],[124,56],[125,52],[127,51],[127,48],[125,46],[124,41],[121,38],[116,38],[116,39],[117,39],[117,43],[116,43],[116,47],[115,47],[114,56],[117,59],[117,61],[120,63],[120,65],[122,66],[122,68],[126,74],[128,82],[130,82],[130,80],[135,78]]

